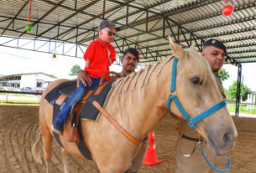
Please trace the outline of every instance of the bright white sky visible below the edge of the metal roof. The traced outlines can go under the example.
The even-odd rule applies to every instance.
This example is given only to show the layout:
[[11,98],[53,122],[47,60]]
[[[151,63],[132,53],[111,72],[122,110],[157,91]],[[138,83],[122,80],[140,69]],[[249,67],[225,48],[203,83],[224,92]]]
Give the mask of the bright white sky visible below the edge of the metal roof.
[[[53,74],[57,78],[71,78],[71,68],[78,64],[84,69],[84,59],[57,55],[56,59],[52,58],[51,53],[39,53],[18,48],[7,48],[0,46],[0,75],[24,74],[43,72]],[[228,89],[233,81],[238,79],[238,67],[232,64],[224,64],[229,74],[229,79],[223,82],[223,87]],[[112,65],[112,71],[120,72],[122,67]],[[249,89],[256,91],[256,63],[242,64],[242,80]]]

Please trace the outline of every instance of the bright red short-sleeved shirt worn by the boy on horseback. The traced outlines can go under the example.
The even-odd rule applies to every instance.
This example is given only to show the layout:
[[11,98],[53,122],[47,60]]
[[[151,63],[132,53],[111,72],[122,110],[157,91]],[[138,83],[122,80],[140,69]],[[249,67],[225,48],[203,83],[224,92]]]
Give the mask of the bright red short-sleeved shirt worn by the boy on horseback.
[[[102,78],[102,75],[109,71],[110,64],[107,48],[110,52],[110,59],[114,62],[116,60],[115,48],[110,43],[102,43],[101,38],[97,38],[97,40],[91,42],[89,47],[86,49],[84,59],[90,59],[90,64],[88,68],[85,68],[85,70],[91,78]],[[108,80],[109,75],[107,75],[105,79]]]

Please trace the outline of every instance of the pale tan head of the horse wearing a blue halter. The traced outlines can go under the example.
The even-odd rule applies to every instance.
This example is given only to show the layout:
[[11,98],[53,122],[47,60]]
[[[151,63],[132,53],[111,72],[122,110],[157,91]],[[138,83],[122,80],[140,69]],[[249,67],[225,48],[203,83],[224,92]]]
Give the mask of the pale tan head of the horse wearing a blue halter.
[[[171,95],[180,100],[182,109],[189,116],[186,117],[189,124],[206,139],[208,148],[216,155],[227,153],[235,145],[238,134],[222,99],[219,90],[222,86],[218,86],[210,65],[194,46],[184,50],[170,39],[170,48],[178,59],[175,92]],[[175,104],[174,99],[171,100],[171,113],[185,119],[180,113],[180,106]]]

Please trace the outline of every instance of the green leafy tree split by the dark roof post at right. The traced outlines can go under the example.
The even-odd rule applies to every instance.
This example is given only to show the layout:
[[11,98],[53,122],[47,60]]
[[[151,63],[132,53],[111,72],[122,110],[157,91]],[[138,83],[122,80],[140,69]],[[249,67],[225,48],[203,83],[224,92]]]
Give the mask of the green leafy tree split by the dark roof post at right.
[[[237,98],[237,88],[238,88],[238,80],[234,81],[232,85],[229,86],[227,90],[227,97],[229,99],[236,99]],[[240,87],[240,96],[243,98],[243,100],[247,99],[247,94],[252,93],[248,87],[241,82]]]

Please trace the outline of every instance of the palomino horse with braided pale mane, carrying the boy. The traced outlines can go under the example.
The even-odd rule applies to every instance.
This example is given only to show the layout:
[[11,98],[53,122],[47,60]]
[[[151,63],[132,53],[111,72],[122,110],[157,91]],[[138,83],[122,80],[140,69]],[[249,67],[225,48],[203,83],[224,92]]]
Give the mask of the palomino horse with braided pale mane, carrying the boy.
[[[170,40],[170,47],[179,60],[176,67],[175,94],[186,113],[193,118],[217,103],[223,102],[209,64],[196,52],[194,46],[184,50]],[[137,140],[144,140],[168,111],[166,103],[170,95],[172,64],[174,57],[161,59],[137,73],[118,79],[107,97],[104,108]],[[50,172],[53,140],[51,130],[53,106],[44,99],[44,96],[65,81],[60,79],[50,84],[42,95],[39,107],[39,127],[43,137],[47,172]],[[173,101],[170,102],[170,109],[172,114],[184,119]],[[68,172],[67,153],[83,157],[76,144],[67,141],[71,130],[70,124],[71,121],[68,120],[63,135],[60,135],[65,147],[62,153],[65,172]],[[81,126],[91,156],[102,173],[123,173],[128,169],[141,143],[133,144],[102,114],[97,122],[81,120]],[[237,138],[237,130],[226,106],[198,122],[196,130],[206,139],[207,146],[216,155],[223,155],[231,150]],[[39,143],[39,139],[35,146]],[[34,149],[35,160],[40,160],[39,147]]]

